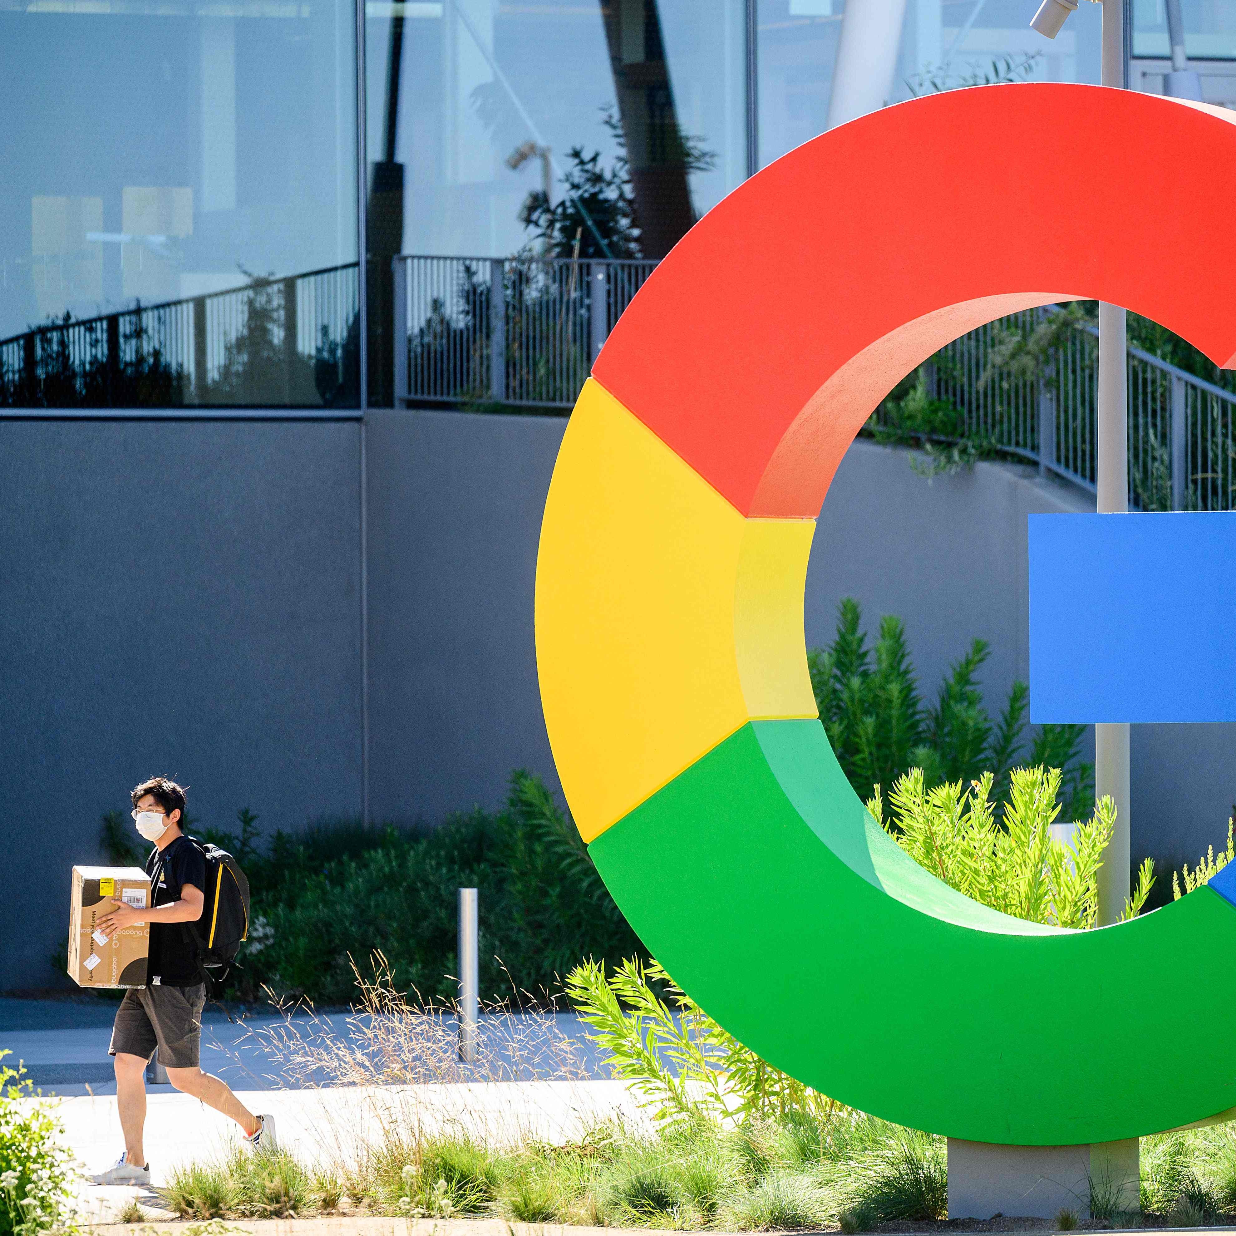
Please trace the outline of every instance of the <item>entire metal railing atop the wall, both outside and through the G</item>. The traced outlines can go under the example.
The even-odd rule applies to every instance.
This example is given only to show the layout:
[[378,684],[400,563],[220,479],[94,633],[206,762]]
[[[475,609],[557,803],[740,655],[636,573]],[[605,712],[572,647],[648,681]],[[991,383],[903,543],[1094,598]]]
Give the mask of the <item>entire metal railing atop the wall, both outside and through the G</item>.
[[[394,271],[399,404],[571,408],[592,361],[654,261],[424,257]],[[869,425],[910,439],[969,440],[1095,489],[1098,331],[1063,323],[1027,362],[1009,357],[1052,309],[996,319],[922,368],[925,394],[953,414],[899,423],[885,400]],[[400,346],[400,342],[403,346]],[[1236,381],[1236,378],[1234,378]],[[1227,510],[1236,501],[1236,393],[1128,349],[1128,498],[1142,510]]]

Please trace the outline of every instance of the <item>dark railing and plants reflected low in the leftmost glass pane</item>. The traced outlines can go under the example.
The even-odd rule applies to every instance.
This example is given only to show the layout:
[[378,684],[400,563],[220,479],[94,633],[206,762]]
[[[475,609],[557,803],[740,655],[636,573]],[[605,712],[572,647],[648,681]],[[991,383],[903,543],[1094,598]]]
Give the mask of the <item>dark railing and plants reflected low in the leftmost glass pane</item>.
[[356,263],[0,340],[0,407],[355,407]]

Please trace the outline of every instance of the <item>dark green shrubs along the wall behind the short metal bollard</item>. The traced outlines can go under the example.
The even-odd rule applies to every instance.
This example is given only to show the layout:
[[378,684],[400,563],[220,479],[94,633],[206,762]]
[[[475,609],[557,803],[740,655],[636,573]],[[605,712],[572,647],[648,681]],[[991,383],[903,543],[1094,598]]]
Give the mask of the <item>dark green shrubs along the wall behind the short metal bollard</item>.
[[255,819],[241,812],[239,833],[199,831],[250,875],[253,929],[234,980],[242,996],[268,986],[346,1004],[356,997],[353,960],[363,969],[378,950],[402,989],[449,1001],[460,887],[478,890],[483,999],[556,990],[581,957],[643,955],[570,817],[527,772],[512,775],[504,811],[431,829],[340,819],[295,838],[277,833],[262,849]]

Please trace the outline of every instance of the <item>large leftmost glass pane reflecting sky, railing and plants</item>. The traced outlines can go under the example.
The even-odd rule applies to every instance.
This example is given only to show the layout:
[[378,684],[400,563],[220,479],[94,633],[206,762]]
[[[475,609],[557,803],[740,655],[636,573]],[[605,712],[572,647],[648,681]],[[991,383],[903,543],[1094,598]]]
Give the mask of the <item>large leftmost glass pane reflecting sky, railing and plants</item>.
[[352,7],[208,11],[0,7],[0,403],[356,404]]

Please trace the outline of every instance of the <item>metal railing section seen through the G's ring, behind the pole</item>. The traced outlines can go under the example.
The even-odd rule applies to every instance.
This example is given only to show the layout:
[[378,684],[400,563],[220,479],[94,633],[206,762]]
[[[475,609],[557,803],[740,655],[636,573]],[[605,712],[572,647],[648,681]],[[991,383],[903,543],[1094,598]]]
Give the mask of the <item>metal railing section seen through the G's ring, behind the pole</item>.
[[[1051,310],[1026,310],[963,335],[923,366],[925,393],[950,404],[955,433],[1038,464],[1044,472],[1094,492],[1096,465],[1098,330],[1089,323],[1057,331],[1033,365],[1000,363],[1010,344],[1028,340]],[[1000,351],[995,351],[995,350]],[[993,355],[995,351],[995,355]],[[918,436],[899,425],[885,400],[874,429]],[[1128,349],[1128,501],[1141,510],[1229,510],[1236,493],[1236,393]]]

